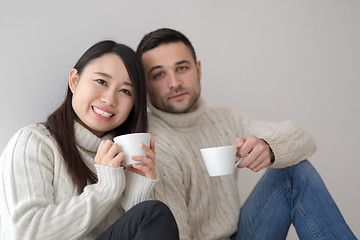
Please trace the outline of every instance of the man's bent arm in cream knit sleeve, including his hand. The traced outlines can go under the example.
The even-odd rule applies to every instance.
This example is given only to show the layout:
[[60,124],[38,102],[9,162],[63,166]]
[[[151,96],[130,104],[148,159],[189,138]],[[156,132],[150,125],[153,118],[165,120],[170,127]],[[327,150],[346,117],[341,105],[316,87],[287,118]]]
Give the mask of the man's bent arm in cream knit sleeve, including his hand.
[[[257,146],[256,151],[266,152],[262,154],[263,164],[254,164],[256,165],[254,169],[257,171],[259,169],[256,167],[259,165],[259,168],[270,165],[274,168],[282,168],[297,164],[310,157],[316,151],[316,143],[313,136],[294,121],[265,122],[252,119],[238,111],[232,111],[232,114],[235,115],[236,128],[240,137],[247,138],[252,142],[248,148],[245,148],[243,140],[237,142],[239,143],[239,149],[244,147],[244,150],[238,152],[238,154],[244,156],[243,154],[246,155],[247,151],[249,153],[249,149],[255,149],[255,146]],[[255,138],[252,138],[254,136]],[[260,145],[263,148],[262,150],[259,147]],[[260,156],[259,152],[257,154]],[[274,162],[272,164],[271,152],[274,155]],[[243,162],[243,165],[245,164],[247,164],[246,161]],[[243,165],[240,166],[244,167]],[[253,167],[251,163],[248,166]]]

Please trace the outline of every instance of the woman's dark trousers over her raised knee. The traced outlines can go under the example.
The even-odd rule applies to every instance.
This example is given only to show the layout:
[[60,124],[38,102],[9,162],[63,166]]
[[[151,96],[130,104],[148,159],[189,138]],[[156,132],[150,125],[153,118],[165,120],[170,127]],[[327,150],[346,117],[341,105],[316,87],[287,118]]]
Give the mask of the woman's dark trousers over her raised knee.
[[179,239],[179,230],[170,209],[160,201],[141,202],[111,225],[97,240]]

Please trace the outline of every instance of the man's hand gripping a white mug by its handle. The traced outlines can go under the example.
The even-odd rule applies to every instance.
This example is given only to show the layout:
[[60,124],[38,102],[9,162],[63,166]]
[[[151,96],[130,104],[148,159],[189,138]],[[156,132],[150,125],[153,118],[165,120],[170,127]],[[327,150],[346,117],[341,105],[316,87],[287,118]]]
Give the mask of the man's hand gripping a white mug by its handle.
[[249,135],[235,139],[238,157],[246,156],[238,165],[238,168],[250,168],[258,172],[270,166],[274,161],[274,154],[270,146],[260,138]]

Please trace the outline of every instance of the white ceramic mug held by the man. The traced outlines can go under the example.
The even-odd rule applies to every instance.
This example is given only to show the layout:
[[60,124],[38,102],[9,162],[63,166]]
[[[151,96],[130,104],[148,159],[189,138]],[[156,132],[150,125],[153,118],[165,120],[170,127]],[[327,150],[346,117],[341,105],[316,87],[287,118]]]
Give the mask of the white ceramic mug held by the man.
[[232,174],[235,167],[246,157],[236,156],[236,145],[202,148],[200,152],[206,169],[212,177]]

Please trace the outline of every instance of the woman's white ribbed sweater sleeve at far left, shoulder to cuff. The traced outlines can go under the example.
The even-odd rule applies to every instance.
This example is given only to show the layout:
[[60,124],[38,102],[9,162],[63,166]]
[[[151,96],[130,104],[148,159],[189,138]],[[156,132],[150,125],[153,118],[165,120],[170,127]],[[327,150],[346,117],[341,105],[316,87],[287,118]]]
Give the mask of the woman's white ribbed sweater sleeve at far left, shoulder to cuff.
[[64,180],[69,184],[69,197],[56,202],[53,181],[62,161],[49,139],[25,128],[1,155],[1,221],[12,239],[84,237],[109,213],[124,190],[123,168],[95,165],[98,183],[74,195],[72,183]]

